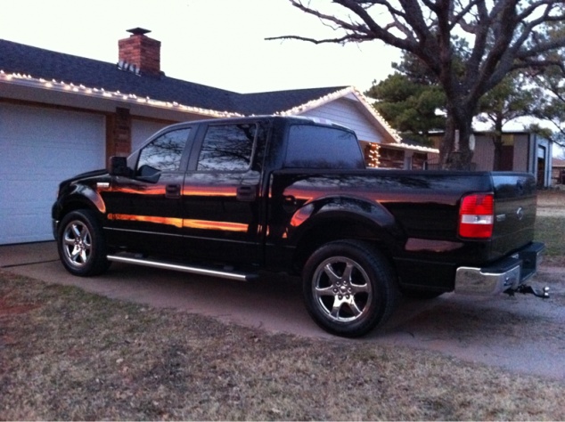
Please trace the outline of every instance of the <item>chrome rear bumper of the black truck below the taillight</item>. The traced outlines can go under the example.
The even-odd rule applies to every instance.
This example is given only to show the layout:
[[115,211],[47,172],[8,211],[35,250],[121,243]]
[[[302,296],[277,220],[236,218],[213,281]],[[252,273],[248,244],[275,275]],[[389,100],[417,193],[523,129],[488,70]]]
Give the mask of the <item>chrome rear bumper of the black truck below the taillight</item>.
[[495,295],[515,290],[536,274],[544,250],[544,243],[534,242],[487,267],[459,267],[455,274],[455,293]]

